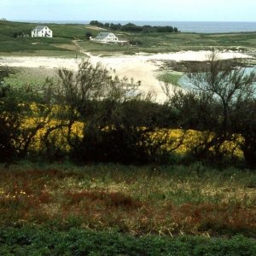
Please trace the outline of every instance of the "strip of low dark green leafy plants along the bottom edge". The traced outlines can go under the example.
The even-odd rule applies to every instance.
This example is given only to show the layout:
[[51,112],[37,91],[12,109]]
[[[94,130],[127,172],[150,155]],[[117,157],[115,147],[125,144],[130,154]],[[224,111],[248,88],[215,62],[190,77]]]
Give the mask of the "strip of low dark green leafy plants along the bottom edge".
[[140,236],[34,227],[0,230],[1,255],[255,255],[256,241],[202,236]]

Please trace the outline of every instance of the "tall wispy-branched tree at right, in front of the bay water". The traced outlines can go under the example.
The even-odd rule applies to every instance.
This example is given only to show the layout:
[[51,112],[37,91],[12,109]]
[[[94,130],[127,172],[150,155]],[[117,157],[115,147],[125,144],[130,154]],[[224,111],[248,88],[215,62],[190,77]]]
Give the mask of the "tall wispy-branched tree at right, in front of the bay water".
[[[237,133],[246,136],[241,126],[240,129],[235,129],[236,119],[241,118],[237,109],[244,106],[242,111],[247,113],[248,104],[244,102],[251,104],[255,97],[255,73],[246,73],[246,70],[237,67],[236,63],[236,59],[218,60],[218,52],[213,49],[206,63],[189,67],[189,93],[178,92],[171,98],[172,105],[183,116],[186,129],[209,131],[205,133],[207,137],[204,142],[194,148],[197,157],[200,156],[201,159],[212,154],[215,160],[223,159],[224,152],[221,150],[224,142],[235,140]],[[250,116],[254,114],[250,113]],[[247,124],[252,127],[251,123]],[[246,143],[241,147],[244,154],[245,145]],[[198,151],[199,148],[201,150]]]

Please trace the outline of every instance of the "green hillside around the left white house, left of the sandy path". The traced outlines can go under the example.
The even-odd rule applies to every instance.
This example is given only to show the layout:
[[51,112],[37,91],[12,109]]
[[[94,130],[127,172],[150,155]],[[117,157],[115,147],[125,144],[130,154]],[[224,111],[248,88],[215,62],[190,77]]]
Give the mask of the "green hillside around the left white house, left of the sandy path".
[[83,25],[47,24],[53,30],[54,38],[15,38],[15,32],[31,34],[33,23],[0,20],[0,52],[26,55],[70,55],[79,49],[73,40],[83,39]]

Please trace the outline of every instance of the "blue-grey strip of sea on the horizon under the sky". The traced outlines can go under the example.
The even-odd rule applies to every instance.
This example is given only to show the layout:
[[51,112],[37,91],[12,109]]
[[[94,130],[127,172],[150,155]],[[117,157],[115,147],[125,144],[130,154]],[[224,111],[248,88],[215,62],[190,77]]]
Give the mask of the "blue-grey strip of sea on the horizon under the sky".
[[[18,20],[15,20],[18,21]],[[19,20],[21,21],[21,20]],[[33,23],[57,23],[57,24],[89,24],[90,20],[22,20]],[[129,22],[137,26],[176,26],[180,32],[195,33],[227,33],[227,32],[256,32],[256,22],[224,22],[224,21],[137,21],[137,20],[99,20],[102,23]]]

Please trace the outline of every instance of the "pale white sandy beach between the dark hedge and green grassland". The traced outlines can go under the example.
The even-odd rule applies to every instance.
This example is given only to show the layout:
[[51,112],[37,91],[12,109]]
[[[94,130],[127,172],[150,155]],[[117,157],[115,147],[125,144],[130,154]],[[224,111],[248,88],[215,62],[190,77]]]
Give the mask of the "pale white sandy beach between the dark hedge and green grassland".
[[[206,61],[210,51],[182,51],[167,54],[147,55],[139,53],[137,55],[119,55],[119,56],[95,56],[87,55],[92,64],[101,62],[103,67],[114,70],[119,78],[126,77],[134,79],[135,83],[141,81],[140,90],[143,92],[152,91],[156,95],[158,102],[166,99],[161,89],[161,82],[156,79],[160,65],[164,61]],[[250,58],[250,55],[238,52],[219,53],[219,59],[230,58]],[[38,57],[38,56],[0,56],[0,66],[9,67],[40,67],[40,68],[61,68],[77,70],[79,58],[61,58],[61,57]]]

